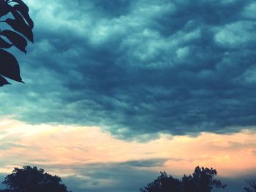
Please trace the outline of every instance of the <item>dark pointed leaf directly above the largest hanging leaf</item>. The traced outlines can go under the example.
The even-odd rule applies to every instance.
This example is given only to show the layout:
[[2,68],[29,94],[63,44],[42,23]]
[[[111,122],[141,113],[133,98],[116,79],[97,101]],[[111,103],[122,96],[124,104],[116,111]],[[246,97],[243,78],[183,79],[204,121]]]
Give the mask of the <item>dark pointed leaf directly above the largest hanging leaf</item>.
[[17,34],[14,31],[4,30],[1,31],[1,35],[7,37],[10,40],[10,42],[12,42],[12,44],[15,45],[15,47],[26,53],[26,46],[28,44],[26,42],[26,39],[22,37],[20,34]]

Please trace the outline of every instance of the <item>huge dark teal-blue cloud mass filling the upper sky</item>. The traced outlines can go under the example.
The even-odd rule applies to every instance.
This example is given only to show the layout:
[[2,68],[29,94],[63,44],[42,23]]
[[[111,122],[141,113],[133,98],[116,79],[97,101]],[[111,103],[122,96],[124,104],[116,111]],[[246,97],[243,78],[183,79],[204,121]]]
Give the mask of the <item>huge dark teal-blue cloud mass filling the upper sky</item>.
[[256,125],[255,1],[26,2],[26,85],[1,88],[1,115],[126,139]]

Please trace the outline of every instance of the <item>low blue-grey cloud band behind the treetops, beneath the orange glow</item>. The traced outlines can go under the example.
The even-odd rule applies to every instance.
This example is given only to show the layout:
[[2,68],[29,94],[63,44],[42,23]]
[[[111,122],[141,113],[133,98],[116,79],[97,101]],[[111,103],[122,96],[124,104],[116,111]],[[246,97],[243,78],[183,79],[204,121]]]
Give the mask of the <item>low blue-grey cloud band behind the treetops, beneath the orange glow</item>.
[[[68,186],[69,190],[75,192],[83,191],[113,191],[113,192],[138,192],[147,183],[151,183],[160,175],[159,172],[143,169],[145,167],[155,167],[165,162],[162,159],[151,159],[146,161],[127,161],[123,163],[109,164],[72,164],[72,170],[77,174],[69,177],[62,177],[63,183]],[[45,165],[44,165],[45,166]],[[45,171],[49,169],[70,169],[70,165],[49,165],[45,166]],[[193,171],[192,171],[193,172]],[[184,174],[192,174],[187,172]],[[167,172],[175,178],[181,179],[183,175],[176,175]],[[1,175],[0,175],[1,178]],[[255,174],[243,174],[239,177],[225,178],[216,176],[216,179],[227,185],[226,192],[241,192],[247,186],[246,180],[255,178]],[[214,192],[223,192],[223,189],[214,188]]]

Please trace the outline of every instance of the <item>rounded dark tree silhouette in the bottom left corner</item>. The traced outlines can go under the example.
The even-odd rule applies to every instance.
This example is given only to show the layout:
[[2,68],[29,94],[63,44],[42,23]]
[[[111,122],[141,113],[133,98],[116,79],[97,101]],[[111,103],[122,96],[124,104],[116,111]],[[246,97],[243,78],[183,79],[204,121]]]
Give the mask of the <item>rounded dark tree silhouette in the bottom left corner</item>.
[[7,189],[1,192],[71,192],[61,183],[60,177],[52,176],[36,166],[15,168],[12,174],[5,177],[3,184],[7,185]]

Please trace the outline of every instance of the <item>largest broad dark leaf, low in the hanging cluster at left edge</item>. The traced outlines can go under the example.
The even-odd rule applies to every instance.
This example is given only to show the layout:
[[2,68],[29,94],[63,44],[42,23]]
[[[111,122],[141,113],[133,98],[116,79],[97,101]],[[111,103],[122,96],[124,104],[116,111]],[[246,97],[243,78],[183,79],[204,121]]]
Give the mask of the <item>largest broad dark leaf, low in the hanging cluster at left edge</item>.
[[0,49],[0,74],[11,80],[23,82],[20,77],[20,66],[16,58],[5,50]]

